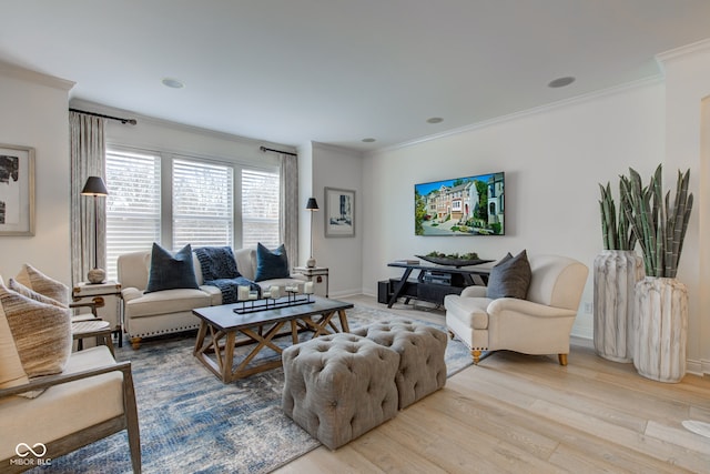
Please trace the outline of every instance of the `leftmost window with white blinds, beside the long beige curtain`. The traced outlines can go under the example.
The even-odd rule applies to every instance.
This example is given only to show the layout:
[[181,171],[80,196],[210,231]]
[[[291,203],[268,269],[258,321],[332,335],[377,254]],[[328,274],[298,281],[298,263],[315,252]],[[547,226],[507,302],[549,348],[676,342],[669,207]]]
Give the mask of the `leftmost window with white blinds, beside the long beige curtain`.
[[106,273],[116,259],[160,242],[160,157],[106,151]]

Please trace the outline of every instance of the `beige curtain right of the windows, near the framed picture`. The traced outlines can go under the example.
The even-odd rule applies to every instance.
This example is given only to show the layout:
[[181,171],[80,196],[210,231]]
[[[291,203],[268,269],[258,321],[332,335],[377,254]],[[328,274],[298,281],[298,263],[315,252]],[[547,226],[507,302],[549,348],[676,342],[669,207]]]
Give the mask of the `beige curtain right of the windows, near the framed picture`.
[[298,265],[298,158],[281,153],[278,226],[291,266]]

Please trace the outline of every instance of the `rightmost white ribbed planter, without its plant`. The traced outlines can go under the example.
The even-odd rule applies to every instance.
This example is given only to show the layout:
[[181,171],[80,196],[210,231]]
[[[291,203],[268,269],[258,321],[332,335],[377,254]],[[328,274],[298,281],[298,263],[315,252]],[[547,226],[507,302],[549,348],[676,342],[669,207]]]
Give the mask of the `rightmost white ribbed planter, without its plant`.
[[659,382],[686,375],[688,290],[677,279],[647,276],[636,284],[633,366]]

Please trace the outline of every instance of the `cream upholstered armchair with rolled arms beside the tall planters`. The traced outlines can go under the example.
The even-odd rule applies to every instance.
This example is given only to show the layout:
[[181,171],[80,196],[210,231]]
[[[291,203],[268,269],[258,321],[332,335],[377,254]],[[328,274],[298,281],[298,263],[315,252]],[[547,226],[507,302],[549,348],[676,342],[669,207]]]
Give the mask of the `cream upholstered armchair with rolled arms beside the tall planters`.
[[581,262],[557,255],[529,258],[532,273],[525,300],[486,297],[485,286],[447,295],[446,325],[478,364],[481,353],[510,350],[524,354],[558,354],[567,365],[569,335],[587,281]]

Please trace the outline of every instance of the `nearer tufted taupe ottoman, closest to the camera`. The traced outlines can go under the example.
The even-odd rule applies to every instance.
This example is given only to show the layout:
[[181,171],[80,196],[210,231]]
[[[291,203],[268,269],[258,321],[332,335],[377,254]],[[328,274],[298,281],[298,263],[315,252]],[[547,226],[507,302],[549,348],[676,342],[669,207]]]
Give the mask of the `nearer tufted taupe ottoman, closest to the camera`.
[[338,333],[286,347],[282,359],[284,413],[331,450],[397,414],[395,351]]

